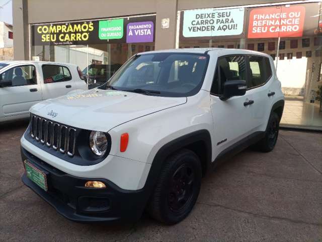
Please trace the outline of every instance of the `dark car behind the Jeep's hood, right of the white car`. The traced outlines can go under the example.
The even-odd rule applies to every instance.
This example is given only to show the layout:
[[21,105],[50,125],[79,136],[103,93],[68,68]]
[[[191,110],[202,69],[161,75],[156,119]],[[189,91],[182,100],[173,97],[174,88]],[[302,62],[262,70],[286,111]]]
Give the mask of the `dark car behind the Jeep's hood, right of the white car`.
[[[104,65],[91,64],[83,70],[83,76],[89,82],[89,89],[99,87],[107,82],[111,76],[121,67],[121,64]],[[87,69],[89,69],[87,71]],[[88,77],[88,76],[89,77]]]

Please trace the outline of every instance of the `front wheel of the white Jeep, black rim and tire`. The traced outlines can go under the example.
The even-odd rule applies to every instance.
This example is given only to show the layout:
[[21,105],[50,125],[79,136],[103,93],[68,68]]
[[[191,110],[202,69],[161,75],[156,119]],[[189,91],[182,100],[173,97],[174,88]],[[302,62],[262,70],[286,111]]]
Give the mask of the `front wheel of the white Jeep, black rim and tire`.
[[166,224],[182,221],[197,201],[201,176],[201,163],[194,152],[182,149],[168,157],[147,207],[150,216]]

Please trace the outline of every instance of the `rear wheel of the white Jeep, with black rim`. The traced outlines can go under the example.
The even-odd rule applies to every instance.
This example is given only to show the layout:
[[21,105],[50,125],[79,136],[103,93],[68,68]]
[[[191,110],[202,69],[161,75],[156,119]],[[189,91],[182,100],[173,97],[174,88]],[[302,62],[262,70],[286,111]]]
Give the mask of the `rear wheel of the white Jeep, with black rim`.
[[276,112],[272,112],[268,119],[265,137],[260,140],[256,145],[256,149],[262,152],[270,152],[274,149],[278,138],[280,127],[280,118]]

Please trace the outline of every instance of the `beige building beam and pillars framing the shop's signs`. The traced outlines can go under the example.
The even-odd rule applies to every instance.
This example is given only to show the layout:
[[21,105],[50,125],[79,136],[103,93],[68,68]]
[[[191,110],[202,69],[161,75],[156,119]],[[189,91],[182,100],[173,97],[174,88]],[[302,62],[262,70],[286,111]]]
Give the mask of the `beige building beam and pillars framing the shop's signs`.
[[[263,4],[280,0],[13,0],[15,59],[29,58],[28,24],[98,19],[156,13],[155,49],[175,47],[177,11],[197,8]],[[288,2],[288,1],[286,1]],[[169,29],[161,29],[161,20],[170,18]]]

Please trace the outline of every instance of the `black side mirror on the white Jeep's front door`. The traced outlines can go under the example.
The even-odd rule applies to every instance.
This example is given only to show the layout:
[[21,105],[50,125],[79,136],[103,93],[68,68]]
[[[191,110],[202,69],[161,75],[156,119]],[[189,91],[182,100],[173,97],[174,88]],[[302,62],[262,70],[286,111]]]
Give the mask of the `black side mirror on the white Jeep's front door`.
[[247,85],[243,80],[227,80],[223,84],[223,95],[220,96],[220,100],[224,101],[234,96],[244,96],[246,93]]

